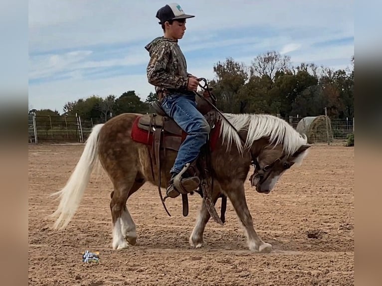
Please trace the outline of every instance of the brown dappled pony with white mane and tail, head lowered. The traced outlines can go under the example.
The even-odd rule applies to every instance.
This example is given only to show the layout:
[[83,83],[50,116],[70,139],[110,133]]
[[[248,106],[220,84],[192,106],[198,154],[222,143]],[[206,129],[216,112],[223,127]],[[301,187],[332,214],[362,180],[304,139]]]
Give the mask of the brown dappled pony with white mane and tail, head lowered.
[[[251,184],[257,192],[269,194],[287,169],[302,163],[310,147],[307,138],[285,120],[273,115],[212,113],[216,116],[211,129],[216,140],[209,154],[213,177],[212,202],[215,204],[221,194],[228,197],[245,230],[249,250],[269,253],[272,245],[264,242],[254,229],[244,182],[251,165],[255,165]],[[52,194],[60,199],[57,209],[50,215],[56,219],[54,229],[64,229],[68,225],[80,204],[93,168],[101,163],[114,187],[110,201],[112,248],[125,249],[136,244],[136,225],[126,206],[127,200],[144,183],[155,185],[158,180],[154,175],[158,173],[158,164],[153,164],[148,144],[137,142],[132,136],[139,118],[143,116],[149,115],[125,113],[93,127],[66,185]],[[164,163],[161,163],[162,188],[166,188],[170,179],[170,168],[176,155],[176,150],[166,150]],[[209,218],[206,201],[202,199],[190,235],[192,247],[202,246]]]

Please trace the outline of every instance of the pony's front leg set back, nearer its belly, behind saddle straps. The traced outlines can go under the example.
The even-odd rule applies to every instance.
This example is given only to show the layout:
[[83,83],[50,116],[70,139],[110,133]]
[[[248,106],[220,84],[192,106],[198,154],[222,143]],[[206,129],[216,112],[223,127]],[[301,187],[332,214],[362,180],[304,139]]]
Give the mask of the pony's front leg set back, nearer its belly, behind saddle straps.
[[[211,194],[213,204],[216,203],[219,195],[220,195],[220,189],[218,189],[217,187],[214,188]],[[201,202],[201,207],[196,219],[195,226],[190,236],[190,245],[192,247],[199,248],[203,245],[203,232],[204,232],[205,225],[207,224],[210,217],[211,215],[209,214],[207,207],[205,206],[205,202],[203,200]]]

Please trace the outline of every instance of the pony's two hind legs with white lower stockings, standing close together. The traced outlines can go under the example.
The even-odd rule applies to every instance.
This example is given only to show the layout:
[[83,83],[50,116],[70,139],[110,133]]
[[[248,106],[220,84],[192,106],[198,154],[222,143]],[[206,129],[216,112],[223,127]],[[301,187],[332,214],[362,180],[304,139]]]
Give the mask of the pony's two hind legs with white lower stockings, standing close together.
[[144,179],[137,176],[132,182],[125,180],[123,184],[115,187],[111,194],[110,209],[113,219],[113,249],[124,249],[129,247],[129,244],[136,244],[136,225],[127,209],[126,201],[144,183]]

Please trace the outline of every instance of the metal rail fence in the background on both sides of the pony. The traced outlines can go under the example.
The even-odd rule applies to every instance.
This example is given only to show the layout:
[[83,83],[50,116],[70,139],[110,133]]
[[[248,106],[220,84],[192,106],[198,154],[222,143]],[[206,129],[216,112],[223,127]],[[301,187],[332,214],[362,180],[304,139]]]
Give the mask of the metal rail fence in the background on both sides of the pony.
[[[291,116],[283,119],[296,129],[302,118]],[[28,142],[84,143],[93,126],[99,122],[99,119],[82,119],[79,116],[36,116],[34,113],[30,113],[28,115]],[[354,118],[331,119],[329,128],[333,139],[346,140],[348,134],[354,133]]]

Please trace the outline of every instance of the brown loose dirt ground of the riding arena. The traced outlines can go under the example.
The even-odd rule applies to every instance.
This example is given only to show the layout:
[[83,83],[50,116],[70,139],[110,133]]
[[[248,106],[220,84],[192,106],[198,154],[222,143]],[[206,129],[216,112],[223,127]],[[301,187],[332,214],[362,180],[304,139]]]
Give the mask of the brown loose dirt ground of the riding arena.
[[[246,184],[246,197],[260,237],[271,254],[247,250],[244,232],[228,201],[226,223],[210,220],[204,245],[189,245],[201,199],[169,199],[169,217],[158,190],[145,184],[128,201],[137,224],[137,245],[111,247],[111,182],[95,173],[67,229],[53,231],[57,201],[83,145],[29,145],[29,285],[353,285],[354,148],[314,145],[299,168],[291,168],[269,194]],[[220,200],[217,204],[219,212]],[[81,252],[99,251],[100,263]]]

